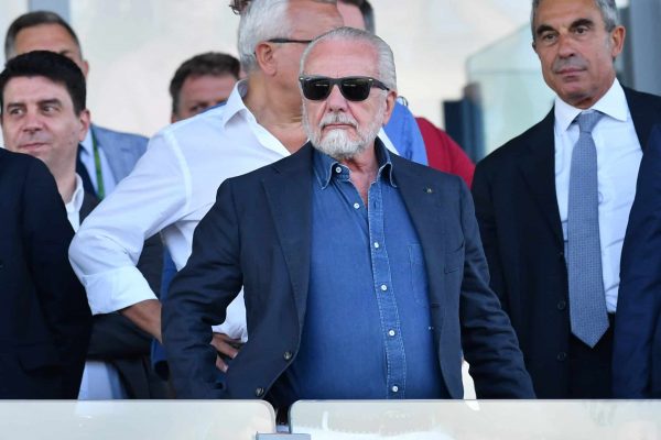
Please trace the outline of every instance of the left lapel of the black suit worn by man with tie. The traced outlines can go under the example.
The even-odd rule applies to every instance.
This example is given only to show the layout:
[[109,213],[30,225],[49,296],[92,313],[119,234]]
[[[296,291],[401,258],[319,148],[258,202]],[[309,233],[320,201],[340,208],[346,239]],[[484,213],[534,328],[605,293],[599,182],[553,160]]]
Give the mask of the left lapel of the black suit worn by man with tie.
[[553,109],[525,138],[527,148],[518,166],[542,217],[562,243],[562,224],[555,194],[555,136]]

